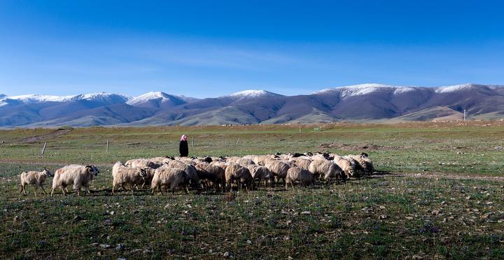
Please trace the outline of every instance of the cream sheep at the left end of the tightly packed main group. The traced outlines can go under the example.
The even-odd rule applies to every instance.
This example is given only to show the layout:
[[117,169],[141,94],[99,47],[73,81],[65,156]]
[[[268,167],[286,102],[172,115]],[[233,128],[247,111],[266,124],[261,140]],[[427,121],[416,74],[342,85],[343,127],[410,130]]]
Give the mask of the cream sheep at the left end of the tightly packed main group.
[[112,194],[114,194],[114,189],[117,185],[120,185],[123,189],[125,189],[124,185],[130,185],[131,192],[133,193],[135,185],[141,184],[144,187],[147,173],[145,168],[130,168],[118,161],[112,167],[112,177]]

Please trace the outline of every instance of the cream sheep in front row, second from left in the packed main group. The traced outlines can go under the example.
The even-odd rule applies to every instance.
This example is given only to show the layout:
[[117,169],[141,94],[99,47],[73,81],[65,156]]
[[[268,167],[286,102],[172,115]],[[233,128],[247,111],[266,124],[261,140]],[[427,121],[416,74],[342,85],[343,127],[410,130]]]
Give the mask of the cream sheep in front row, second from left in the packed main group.
[[180,169],[170,168],[166,164],[157,168],[154,173],[153,180],[151,182],[151,191],[154,194],[155,189],[162,194],[162,187],[165,186],[167,189],[172,189],[172,194],[175,194],[175,188],[181,187],[186,194],[188,194],[188,185],[195,187],[197,182],[195,182],[190,176]]

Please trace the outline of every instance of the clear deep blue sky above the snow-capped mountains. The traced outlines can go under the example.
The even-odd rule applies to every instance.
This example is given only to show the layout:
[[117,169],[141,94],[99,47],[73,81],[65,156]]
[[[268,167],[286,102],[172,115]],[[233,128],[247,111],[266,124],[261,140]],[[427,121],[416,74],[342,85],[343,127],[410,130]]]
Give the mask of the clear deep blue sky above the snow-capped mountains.
[[498,1],[0,1],[0,94],[504,85]]

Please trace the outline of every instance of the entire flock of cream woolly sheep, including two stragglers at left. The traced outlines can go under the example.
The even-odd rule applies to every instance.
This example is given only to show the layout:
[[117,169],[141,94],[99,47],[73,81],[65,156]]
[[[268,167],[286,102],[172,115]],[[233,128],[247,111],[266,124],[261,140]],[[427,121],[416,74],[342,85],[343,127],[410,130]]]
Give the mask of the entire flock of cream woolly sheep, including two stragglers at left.
[[[255,189],[255,185],[274,186],[282,180],[287,188],[295,183],[314,185],[316,180],[343,180],[373,173],[372,161],[367,154],[339,156],[330,153],[318,154],[269,154],[247,155],[245,157],[155,157],[132,159],[125,164],[118,161],[112,168],[112,193],[128,185],[134,189],[150,187],[162,194],[166,190],[188,188],[198,191],[215,189],[216,192],[232,189]],[[97,166],[72,164],[59,168],[52,179],[51,196],[60,188],[63,194],[72,186],[80,196],[84,187],[89,191],[90,181],[99,173]],[[21,192],[26,194],[26,185],[40,187],[45,194],[43,183],[52,173],[48,169],[41,172],[21,173]],[[35,192],[36,195],[36,192]]]

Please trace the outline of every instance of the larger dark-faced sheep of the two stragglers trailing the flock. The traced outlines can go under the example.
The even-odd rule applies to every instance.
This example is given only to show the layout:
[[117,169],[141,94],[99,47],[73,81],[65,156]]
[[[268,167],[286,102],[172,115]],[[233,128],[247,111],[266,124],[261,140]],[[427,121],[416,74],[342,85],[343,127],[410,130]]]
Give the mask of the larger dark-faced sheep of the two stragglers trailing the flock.
[[52,179],[51,196],[57,187],[61,187],[63,195],[65,194],[66,186],[73,185],[73,189],[77,190],[77,196],[80,196],[80,188],[84,187],[87,194],[89,191],[89,182],[97,176],[99,169],[97,166],[83,166],[71,164],[64,166],[55,171],[55,176]]

